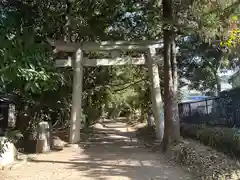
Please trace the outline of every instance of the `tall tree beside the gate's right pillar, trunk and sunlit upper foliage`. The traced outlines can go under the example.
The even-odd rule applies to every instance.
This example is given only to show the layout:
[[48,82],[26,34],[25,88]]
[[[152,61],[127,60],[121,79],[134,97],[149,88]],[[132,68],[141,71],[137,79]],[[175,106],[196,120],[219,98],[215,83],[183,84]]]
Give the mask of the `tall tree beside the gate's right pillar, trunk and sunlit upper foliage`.
[[225,23],[224,16],[229,16],[239,3],[240,1],[237,0],[229,0],[226,5],[223,5],[222,1],[194,0],[180,3],[172,0],[162,1],[162,20],[164,23],[164,150],[167,150],[172,142],[178,141],[180,138],[177,107],[178,78],[174,48],[176,35],[179,33],[183,35],[186,32],[192,34],[195,30],[206,41],[219,39],[218,31],[222,32]]

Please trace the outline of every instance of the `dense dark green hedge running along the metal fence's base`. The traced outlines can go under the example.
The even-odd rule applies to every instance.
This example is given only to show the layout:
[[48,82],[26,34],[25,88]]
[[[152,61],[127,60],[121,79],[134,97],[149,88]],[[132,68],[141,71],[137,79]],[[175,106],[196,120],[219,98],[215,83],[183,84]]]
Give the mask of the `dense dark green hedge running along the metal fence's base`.
[[181,135],[199,140],[223,152],[240,156],[240,129],[182,123]]

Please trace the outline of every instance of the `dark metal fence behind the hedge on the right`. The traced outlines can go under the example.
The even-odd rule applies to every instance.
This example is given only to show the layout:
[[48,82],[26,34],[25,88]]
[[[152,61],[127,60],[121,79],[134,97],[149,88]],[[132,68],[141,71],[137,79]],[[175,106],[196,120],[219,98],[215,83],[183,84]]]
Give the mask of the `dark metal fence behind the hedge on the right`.
[[178,107],[180,120],[185,123],[240,127],[240,94],[179,103]]

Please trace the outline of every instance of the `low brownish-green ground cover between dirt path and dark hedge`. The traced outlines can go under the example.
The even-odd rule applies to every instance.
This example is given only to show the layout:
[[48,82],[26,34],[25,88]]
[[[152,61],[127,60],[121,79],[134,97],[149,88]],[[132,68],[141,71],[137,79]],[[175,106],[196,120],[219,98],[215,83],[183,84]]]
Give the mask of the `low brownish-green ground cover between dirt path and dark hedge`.
[[240,166],[236,160],[196,141],[184,140],[173,147],[171,158],[187,167],[198,180],[240,178]]

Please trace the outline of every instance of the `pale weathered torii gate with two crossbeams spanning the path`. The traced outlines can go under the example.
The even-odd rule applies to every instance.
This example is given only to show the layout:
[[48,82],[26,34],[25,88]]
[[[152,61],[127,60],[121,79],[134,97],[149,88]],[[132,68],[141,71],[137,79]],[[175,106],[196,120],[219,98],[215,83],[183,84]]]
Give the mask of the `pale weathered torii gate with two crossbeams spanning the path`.
[[[163,134],[164,120],[160,117],[162,104],[160,79],[157,63],[162,63],[162,56],[157,56],[156,49],[162,48],[163,43],[160,41],[115,41],[115,42],[84,42],[84,43],[66,43],[63,41],[55,41],[48,39],[48,42],[54,46],[56,51],[75,53],[74,58],[58,59],[55,62],[57,67],[73,67],[73,92],[72,92],[72,109],[70,119],[69,143],[75,144],[80,141],[80,118],[82,105],[82,81],[84,66],[117,66],[127,64],[147,64],[149,77],[151,80],[151,98],[152,110],[155,118],[156,137],[161,140]],[[115,54],[115,57],[104,59],[88,59],[83,57],[83,52],[100,52],[100,51],[140,51],[145,52],[140,58],[120,57]]]

